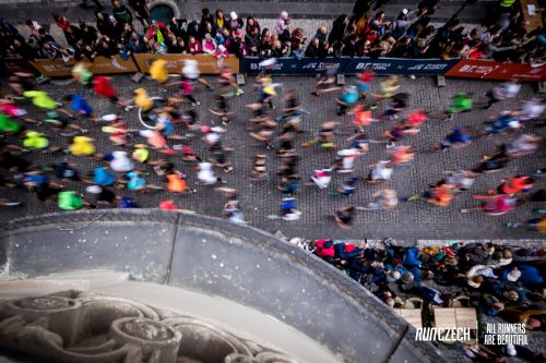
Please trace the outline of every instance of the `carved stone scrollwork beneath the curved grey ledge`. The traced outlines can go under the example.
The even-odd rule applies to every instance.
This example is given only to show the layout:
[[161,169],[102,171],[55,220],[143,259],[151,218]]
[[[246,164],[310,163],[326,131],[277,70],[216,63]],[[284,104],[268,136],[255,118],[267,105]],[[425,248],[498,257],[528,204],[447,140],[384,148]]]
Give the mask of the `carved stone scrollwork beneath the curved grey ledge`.
[[0,347],[36,362],[297,362],[191,316],[74,291],[2,302]]

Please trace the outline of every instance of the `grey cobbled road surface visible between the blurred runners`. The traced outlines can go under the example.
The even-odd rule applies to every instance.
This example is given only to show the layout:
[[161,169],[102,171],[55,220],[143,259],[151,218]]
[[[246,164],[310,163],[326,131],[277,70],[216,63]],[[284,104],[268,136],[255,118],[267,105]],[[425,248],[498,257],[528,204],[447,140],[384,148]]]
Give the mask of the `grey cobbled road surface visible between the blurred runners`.
[[[378,77],[373,83],[373,89],[378,89],[378,83],[381,77]],[[57,85],[48,84],[44,89],[50,92],[55,97],[61,98],[67,94],[82,93],[81,86],[69,83],[67,81],[55,81]],[[351,117],[337,117],[336,108],[333,98],[336,93],[330,94],[321,98],[316,98],[310,95],[313,86],[311,77],[275,77],[274,82],[283,84],[283,89],[296,89],[299,99],[304,107],[311,111],[310,116],[304,119],[302,125],[306,133],[299,134],[297,144],[308,141],[313,137],[319,125],[329,120],[337,120],[344,123],[351,122]],[[130,81],[128,75],[116,76],[114,84],[117,86],[122,97],[128,98],[135,88],[134,83]],[[366,205],[371,199],[371,194],[379,189],[377,185],[358,184],[357,194],[352,199],[329,196],[328,191],[319,191],[316,186],[304,186],[301,193],[297,196],[299,209],[302,211],[301,219],[295,222],[286,222],[283,220],[268,219],[268,215],[278,211],[278,203],[281,195],[276,191],[278,178],[274,174],[277,170],[281,160],[275,157],[274,150],[265,150],[258,142],[253,141],[246,132],[248,125],[249,112],[245,105],[257,99],[252,90],[252,80],[247,78],[247,86],[244,87],[246,94],[242,97],[232,98],[229,100],[230,108],[235,111],[234,121],[227,125],[227,134],[225,136],[225,145],[235,148],[229,156],[235,171],[229,174],[224,174],[228,182],[228,186],[236,187],[240,193],[241,210],[246,214],[247,219],[254,227],[264,229],[270,232],[281,230],[288,237],[304,238],[335,238],[335,239],[383,239],[387,237],[395,238],[399,241],[406,243],[415,243],[417,240],[521,240],[531,239],[544,242],[544,238],[535,232],[523,229],[508,229],[505,227],[508,221],[522,221],[533,216],[537,216],[532,210],[534,208],[544,208],[544,205],[534,204],[525,205],[514,213],[510,213],[500,217],[491,217],[480,213],[461,214],[459,209],[467,208],[477,205],[471,198],[471,193],[460,193],[456,195],[454,203],[449,208],[440,208],[427,205],[425,202],[401,203],[401,205],[388,211],[359,211],[354,226],[351,230],[339,229],[333,218],[332,213],[342,206],[348,204]],[[423,107],[432,111],[443,109],[450,102],[450,98],[458,92],[473,92],[475,95],[485,93],[494,86],[492,82],[477,82],[464,80],[448,80],[448,86],[437,88],[431,77],[419,77],[417,80],[404,78],[402,90],[411,95],[411,108],[415,109]],[[159,87],[152,81],[144,80],[140,86],[145,87],[150,95],[165,95]],[[174,89],[170,89],[174,92]],[[280,95],[282,96],[282,95]],[[475,110],[470,113],[462,114],[455,121],[427,121],[422,128],[420,133],[416,136],[407,137],[403,144],[413,145],[417,152],[416,159],[413,166],[397,167],[394,171],[392,181],[384,186],[393,187],[399,192],[401,197],[410,196],[414,193],[419,193],[427,190],[431,183],[436,183],[442,178],[442,171],[460,168],[472,168],[482,158],[483,155],[491,153],[496,147],[510,138],[506,135],[495,135],[482,138],[475,142],[472,146],[462,149],[448,150],[447,153],[430,153],[432,145],[442,140],[455,124],[472,125],[482,129],[483,121],[496,112],[499,112],[509,107],[515,107],[521,100],[529,99],[535,96],[532,85],[524,85],[521,97],[518,100],[506,101],[494,106],[490,111]],[[94,96],[87,96],[91,102],[96,108],[99,114],[110,112],[121,112],[124,119],[130,123],[130,128],[139,129],[140,123],[136,118],[136,111],[123,113],[119,107],[112,106],[105,100],[99,100]],[[201,100],[201,106],[198,111],[201,116],[201,122],[212,124],[214,117],[207,112],[209,108],[213,108],[212,94],[198,87],[197,98]],[[277,109],[270,111],[272,117],[280,116],[282,105],[277,99]],[[189,106],[185,106],[189,107]],[[384,106],[381,106],[381,108]],[[381,108],[377,112],[381,111]],[[34,107],[28,107],[34,112]],[[91,135],[95,137],[97,148],[102,152],[111,152],[116,149],[108,141],[107,135],[99,130],[100,125],[91,124],[88,121],[79,121],[80,124],[85,124],[90,129]],[[370,138],[376,138],[382,132],[392,125],[393,121],[383,121],[375,123],[369,128]],[[67,147],[69,140],[67,137],[54,135],[49,125],[37,126],[36,130],[51,135],[51,144]],[[545,129],[534,129],[529,125],[525,132],[537,133],[545,136]],[[520,134],[521,132],[518,132]],[[347,146],[345,141],[347,135],[336,136],[336,143],[341,146]],[[14,141],[10,138],[10,141]],[[143,141],[136,136],[136,142]],[[179,142],[178,142],[179,143]],[[191,141],[198,154],[202,157],[206,156],[204,145],[198,138]],[[173,144],[177,144],[176,142]],[[333,159],[332,152],[321,150],[318,147],[300,149],[302,162],[300,162],[299,172],[306,178],[309,178],[314,169],[329,166]],[[251,170],[250,158],[257,153],[268,154],[268,171],[271,179],[262,182],[250,182],[248,180]],[[511,173],[532,173],[538,168],[545,167],[546,149],[542,148],[534,155],[518,158],[509,164],[509,167],[500,172],[491,174],[482,174],[477,178],[472,193],[486,193],[489,189],[496,187],[503,177]],[[153,155],[153,158],[159,156]],[[90,162],[87,159],[73,156],[46,156],[39,152],[34,152],[32,158],[37,164],[59,162],[61,160],[73,161],[82,169],[82,174],[92,170],[97,162]],[[388,152],[383,144],[371,144],[367,155],[361,156],[356,161],[354,176],[365,176],[367,166],[378,160],[388,158]],[[173,160],[176,160],[173,158]],[[189,183],[193,184],[195,173],[192,167],[181,165],[176,161],[176,166],[188,174]],[[335,187],[340,182],[347,180],[353,174],[336,174],[333,178],[330,190]],[[150,182],[161,184],[162,181],[152,172]],[[537,186],[544,185],[545,179],[537,182]],[[84,192],[85,185],[78,183],[69,183],[69,189]],[[136,192],[119,191],[120,195],[131,195],[142,207],[156,207],[162,199],[174,198],[181,208],[195,210],[200,214],[219,216],[223,208],[222,195],[213,192],[212,187],[198,186],[198,193],[187,196],[175,196],[166,191],[152,192],[150,194],[139,194]],[[11,198],[21,198],[24,206],[20,208],[2,208],[0,215],[3,220],[15,217],[28,216],[31,214],[43,214],[56,211],[56,205],[40,205],[35,196],[20,191],[2,190],[3,196]],[[539,242],[535,241],[535,242]]]

